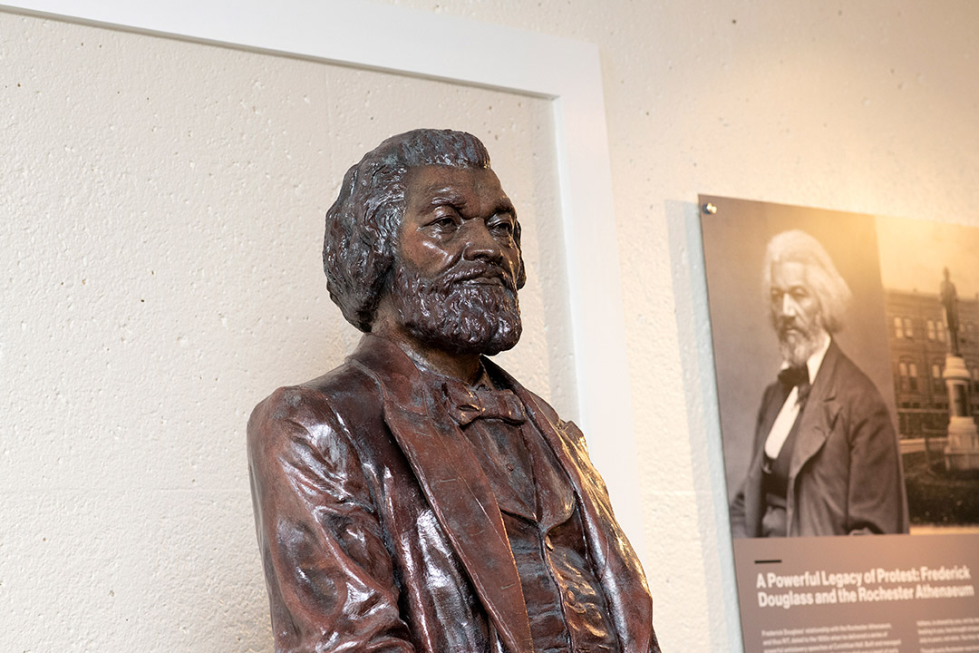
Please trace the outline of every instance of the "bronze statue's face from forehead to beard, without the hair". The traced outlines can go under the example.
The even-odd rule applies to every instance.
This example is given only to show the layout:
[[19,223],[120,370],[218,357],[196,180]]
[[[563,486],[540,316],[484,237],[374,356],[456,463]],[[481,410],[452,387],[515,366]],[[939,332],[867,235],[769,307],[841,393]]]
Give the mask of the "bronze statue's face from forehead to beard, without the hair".
[[513,204],[489,169],[426,165],[405,179],[392,301],[419,340],[496,353],[520,338]]

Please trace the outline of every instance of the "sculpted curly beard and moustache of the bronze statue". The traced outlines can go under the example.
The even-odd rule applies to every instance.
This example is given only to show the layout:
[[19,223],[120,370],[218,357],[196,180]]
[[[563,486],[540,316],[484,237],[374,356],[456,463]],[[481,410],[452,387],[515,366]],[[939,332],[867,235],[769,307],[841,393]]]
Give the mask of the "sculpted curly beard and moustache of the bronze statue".
[[435,279],[396,264],[392,299],[411,335],[452,353],[509,350],[523,330],[512,276],[482,261],[461,261]]

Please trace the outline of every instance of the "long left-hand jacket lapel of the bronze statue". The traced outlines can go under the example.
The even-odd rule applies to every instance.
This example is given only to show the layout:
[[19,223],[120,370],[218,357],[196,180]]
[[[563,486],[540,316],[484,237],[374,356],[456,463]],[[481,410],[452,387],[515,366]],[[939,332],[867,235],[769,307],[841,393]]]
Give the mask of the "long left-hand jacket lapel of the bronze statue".
[[350,357],[381,388],[384,417],[455,554],[514,653],[533,650],[517,566],[479,461],[414,363],[394,344],[364,336]]

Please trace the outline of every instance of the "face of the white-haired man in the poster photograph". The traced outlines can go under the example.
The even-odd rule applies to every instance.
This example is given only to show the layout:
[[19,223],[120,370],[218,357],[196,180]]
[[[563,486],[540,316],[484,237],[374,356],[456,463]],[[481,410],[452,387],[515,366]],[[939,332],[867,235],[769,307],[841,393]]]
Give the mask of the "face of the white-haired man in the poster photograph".
[[823,333],[822,313],[806,279],[806,265],[794,260],[773,262],[769,301],[782,357],[792,365],[804,364]]

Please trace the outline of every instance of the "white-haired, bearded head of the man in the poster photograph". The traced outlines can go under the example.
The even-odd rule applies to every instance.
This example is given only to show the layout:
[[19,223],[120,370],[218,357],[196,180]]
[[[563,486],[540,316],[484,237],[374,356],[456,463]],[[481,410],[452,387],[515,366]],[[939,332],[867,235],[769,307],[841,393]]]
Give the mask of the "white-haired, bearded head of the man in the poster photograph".
[[769,241],[762,292],[782,358],[802,365],[824,334],[843,328],[851,293],[832,258],[815,238],[798,229]]

